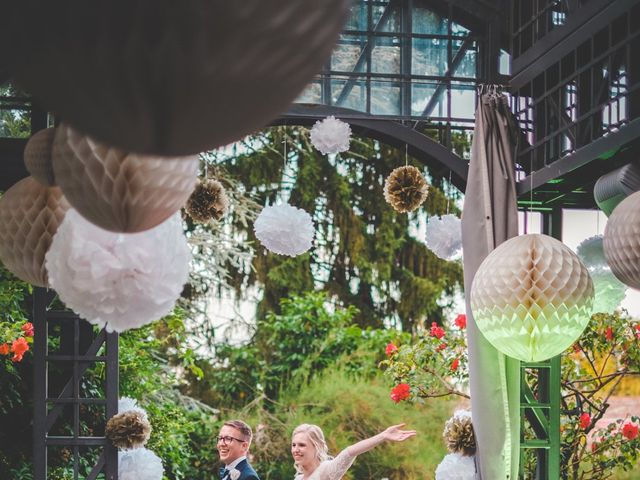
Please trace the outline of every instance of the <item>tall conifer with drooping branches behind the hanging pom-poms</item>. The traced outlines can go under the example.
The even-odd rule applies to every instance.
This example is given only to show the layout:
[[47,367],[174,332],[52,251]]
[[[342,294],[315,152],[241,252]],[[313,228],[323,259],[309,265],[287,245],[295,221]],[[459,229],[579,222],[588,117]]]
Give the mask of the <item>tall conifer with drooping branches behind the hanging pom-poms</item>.
[[[218,157],[216,164],[258,203],[288,198],[312,215],[316,228],[308,254],[292,259],[257,248],[253,268],[235,270],[231,282],[237,292],[254,285],[264,290],[259,318],[279,312],[281,298],[314,288],[339,305],[355,306],[355,323],[363,327],[395,321],[411,331],[427,317],[441,317],[437,300],[461,284],[461,266],[437,258],[410,231],[420,214],[457,210],[433,187],[416,213],[393,211],[384,200],[384,180],[405,163],[404,152],[356,138],[348,153],[327,157],[313,148],[305,129],[284,127],[251,137],[238,152]],[[424,165],[412,158],[408,162],[429,176]],[[234,227],[257,244],[250,225]]]

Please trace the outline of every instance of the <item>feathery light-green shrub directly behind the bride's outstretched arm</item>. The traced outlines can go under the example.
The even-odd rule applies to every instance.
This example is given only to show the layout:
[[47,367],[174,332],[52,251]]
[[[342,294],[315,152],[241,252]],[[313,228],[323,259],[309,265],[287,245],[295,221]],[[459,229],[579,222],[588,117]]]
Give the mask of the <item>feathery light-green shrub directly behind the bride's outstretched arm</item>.
[[448,400],[427,405],[394,404],[379,378],[354,378],[341,369],[325,371],[309,384],[283,392],[275,408],[270,402],[251,404],[233,414],[257,425],[252,446],[254,466],[263,480],[293,478],[290,453],[293,429],[301,423],[319,425],[330,453],[406,422],[418,436],[402,444],[382,445],[358,459],[345,479],[433,478],[444,456],[442,428],[454,409]]

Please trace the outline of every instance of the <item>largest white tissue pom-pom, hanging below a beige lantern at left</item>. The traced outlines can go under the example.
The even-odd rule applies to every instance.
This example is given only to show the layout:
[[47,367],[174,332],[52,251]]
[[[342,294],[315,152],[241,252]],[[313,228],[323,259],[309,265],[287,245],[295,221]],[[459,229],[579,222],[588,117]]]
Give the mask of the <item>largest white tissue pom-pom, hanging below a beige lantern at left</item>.
[[113,233],[67,212],[46,255],[49,282],[74,312],[108,332],[167,315],[189,275],[191,251],[175,214],[141,233]]

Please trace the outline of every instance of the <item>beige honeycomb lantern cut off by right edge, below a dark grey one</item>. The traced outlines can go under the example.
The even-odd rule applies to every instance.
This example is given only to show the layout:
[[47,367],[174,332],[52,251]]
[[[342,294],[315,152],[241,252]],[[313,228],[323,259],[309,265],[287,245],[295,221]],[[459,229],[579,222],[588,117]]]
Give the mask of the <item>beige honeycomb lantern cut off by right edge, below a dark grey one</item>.
[[640,290],[640,192],[625,198],[611,213],[603,248],[618,280]]

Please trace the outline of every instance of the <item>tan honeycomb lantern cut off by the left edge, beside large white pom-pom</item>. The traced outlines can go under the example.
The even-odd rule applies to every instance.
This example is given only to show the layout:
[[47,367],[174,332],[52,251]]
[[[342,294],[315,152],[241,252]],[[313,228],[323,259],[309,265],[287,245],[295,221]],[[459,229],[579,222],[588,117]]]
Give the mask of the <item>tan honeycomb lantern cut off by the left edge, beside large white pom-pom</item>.
[[18,278],[48,287],[45,254],[69,204],[57,187],[31,177],[0,198],[0,260]]

